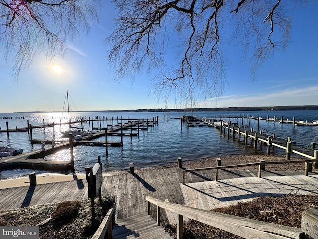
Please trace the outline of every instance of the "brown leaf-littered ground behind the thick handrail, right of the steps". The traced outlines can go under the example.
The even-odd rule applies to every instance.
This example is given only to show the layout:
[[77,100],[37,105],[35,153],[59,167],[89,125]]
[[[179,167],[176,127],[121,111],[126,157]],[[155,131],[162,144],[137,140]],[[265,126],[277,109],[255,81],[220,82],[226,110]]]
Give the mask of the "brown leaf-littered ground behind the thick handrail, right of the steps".
[[[283,197],[261,196],[251,202],[238,203],[213,211],[300,228],[302,212],[309,207],[318,207],[318,196],[291,194]],[[194,220],[185,222],[183,227],[184,239],[241,239],[239,236]],[[176,225],[167,225],[166,231],[176,238]]]

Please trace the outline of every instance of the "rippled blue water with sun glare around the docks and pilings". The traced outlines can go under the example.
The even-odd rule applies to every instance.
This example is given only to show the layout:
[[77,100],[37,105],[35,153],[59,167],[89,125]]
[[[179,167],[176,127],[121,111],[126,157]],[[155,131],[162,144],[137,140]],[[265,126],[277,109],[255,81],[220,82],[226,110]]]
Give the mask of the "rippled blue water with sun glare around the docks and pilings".
[[[80,120],[81,117],[88,120],[96,116],[101,119],[108,117],[114,119],[114,123],[119,119],[150,119],[160,118],[159,124],[150,127],[148,131],[140,131],[139,137],[123,138],[123,147],[109,147],[108,157],[106,158],[105,147],[93,146],[77,146],[74,148],[75,171],[84,173],[85,167],[93,166],[101,156],[104,165],[104,171],[114,171],[127,169],[129,162],[134,162],[135,168],[150,167],[156,165],[168,165],[177,162],[177,157],[182,157],[183,161],[196,160],[206,157],[222,157],[223,155],[233,154],[266,154],[266,148],[255,149],[252,146],[245,146],[242,142],[233,140],[232,137],[221,134],[218,129],[213,127],[190,127],[187,128],[183,123],[181,130],[181,120],[172,119],[181,117],[182,115],[194,115],[198,117],[229,117],[234,116],[234,122],[241,125],[248,124],[249,120],[236,118],[237,116],[254,116],[262,118],[289,119],[293,120],[318,120],[318,111],[245,111],[245,112],[130,112],[130,113],[103,113],[103,112],[87,112],[87,113],[70,113],[72,121]],[[13,117],[14,119],[2,119],[3,117]],[[24,119],[23,119],[24,118]],[[165,119],[163,119],[165,118]],[[62,113],[0,113],[0,127],[6,129],[6,122],[10,129],[17,127],[27,127],[27,121],[33,126],[43,125],[44,123],[60,123],[67,122],[67,116]],[[232,118],[231,118],[232,120]],[[74,125],[80,127],[81,125]],[[94,127],[97,122],[94,121]],[[98,123],[98,126],[106,127],[106,121]],[[60,130],[67,130],[67,125],[55,126],[55,138],[61,137]],[[91,130],[91,123],[84,123],[84,129]],[[318,142],[318,126],[296,126],[292,124],[279,124],[278,122],[265,122],[260,120],[259,128],[257,120],[252,119],[251,128],[255,131],[263,130],[264,133],[275,133],[277,137],[292,137],[297,144],[306,146],[311,142]],[[36,128],[32,131],[34,139],[52,139],[53,128]],[[104,137],[96,139],[97,141],[105,140]],[[109,141],[120,141],[118,136],[110,136]],[[23,148],[24,152],[39,150],[41,145],[30,144],[29,134],[27,132],[12,132],[9,137],[6,133],[0,133],[1,145],[12,148]],[[284,151],[276,150],[276,154],[284,155]],[[63,160],[70,161],[70,150],[62,150],[56,154],[49,155],[39,160]],[[235,163],[235,162],[234,162]],[[26,176],[34,170],[15,169],[12,171],[0,172],[0,179]],[[50,173],[48,171],[34,171],[36,173]],[[70,172],[61,172],[70,173]]]

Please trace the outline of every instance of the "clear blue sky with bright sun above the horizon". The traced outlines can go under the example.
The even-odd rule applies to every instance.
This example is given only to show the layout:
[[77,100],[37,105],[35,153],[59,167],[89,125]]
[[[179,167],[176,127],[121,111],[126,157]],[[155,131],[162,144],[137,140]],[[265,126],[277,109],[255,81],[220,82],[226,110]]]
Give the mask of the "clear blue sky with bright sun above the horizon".
[[[105,4],[105,3],[104,3]],[[242,61],[237,50],[228,51],[228,84],[222,97],[198,103],[198,107],[318,105],[318,4],[293,13],[291,42],[285,52],[276,52],[251,80],[249,61]],[[113,80],[107,63],[114,9],[103,6],[100,22],[81,41],[69,42],[66,59],[48,61],[38,54],[17,82],[10,75],[12,62],[0,54],[0,113],[20,111],[62,111],[66,90],[70,108],[81,110],[126,110],[165,108],[151,94],[147,75],[134,81]],[[61,67],[61,73],[52,70]],[[173,99],[168,108],[175,108]]]

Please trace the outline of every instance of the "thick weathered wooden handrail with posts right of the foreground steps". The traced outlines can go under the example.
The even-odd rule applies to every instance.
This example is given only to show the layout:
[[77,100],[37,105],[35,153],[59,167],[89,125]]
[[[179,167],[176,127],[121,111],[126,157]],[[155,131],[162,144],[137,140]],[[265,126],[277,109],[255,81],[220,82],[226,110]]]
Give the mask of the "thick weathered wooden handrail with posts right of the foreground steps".
[[[301,235],[304,234],[299,228],[192,208],[162,201],[150,196],[146,196],[146,200],[148,203],[148,214],[150,214],[150,203],[156,205],[157,208],[164,208],[177,214],[177,239],[183,237],[183,217],[205,223],[247,239],[300,239]],[[158,211],[160,212],[157,209]],[[160,225],[159,220],[160,216],[157,215],[158,225]]]

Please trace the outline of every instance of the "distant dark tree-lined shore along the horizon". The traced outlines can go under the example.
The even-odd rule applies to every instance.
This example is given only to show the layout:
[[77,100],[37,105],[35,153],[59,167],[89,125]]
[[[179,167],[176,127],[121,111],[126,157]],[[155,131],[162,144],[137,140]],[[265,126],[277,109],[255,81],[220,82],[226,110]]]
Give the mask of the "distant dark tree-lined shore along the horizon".
[[[72,111],[72,112],[193,112],[193,111],[314,111],[318,110],[318,105],[305,106],[246,106],[246,107],[214,107],[214,108],[180,108],[180,109],[135,109],[135,110],[92,110],[92,111]],[[13,113],[46,113],[60,111],[20,111]],[[6,113],[7,114],[7,113]]]

